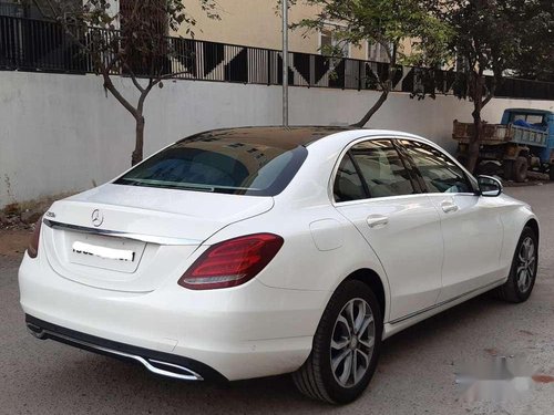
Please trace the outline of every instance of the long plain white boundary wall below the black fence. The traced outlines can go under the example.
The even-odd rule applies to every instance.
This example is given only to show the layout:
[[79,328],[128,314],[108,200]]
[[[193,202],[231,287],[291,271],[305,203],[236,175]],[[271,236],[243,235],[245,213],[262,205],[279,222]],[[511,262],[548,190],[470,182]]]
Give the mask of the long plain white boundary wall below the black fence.
[[[117,80],[126,95],[130,80]],[[145,155],[189,134],[228,126],[278,125],[279,86],[202,81],[166,82],[146,101]],[[290,123],[357,121],[376,92],[290,87]],[[506,107],[554,110],[551,101],[493,100],[484,120],[499,122]],[[470,102],[453,96],[411,100],[393,93],[372,127],[408,131],[454,148],[452,121],[471,121]],[[0,72],[0,207],[76,191],[130,166],[134,120],[94,75]]]

